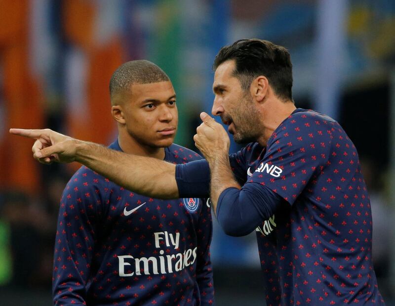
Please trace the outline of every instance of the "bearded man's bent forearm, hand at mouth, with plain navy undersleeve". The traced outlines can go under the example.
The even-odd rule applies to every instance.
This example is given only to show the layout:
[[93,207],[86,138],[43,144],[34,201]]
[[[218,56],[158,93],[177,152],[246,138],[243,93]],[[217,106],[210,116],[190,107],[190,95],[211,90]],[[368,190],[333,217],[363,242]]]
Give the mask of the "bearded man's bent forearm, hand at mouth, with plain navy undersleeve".
[[273,216],[282,198],[256,184],[241,188],[229,162],[228,134],[207,114],[201,113],[200,118],[203,123],[197,128],[194,140],[210,167],[211,201],[218,222],[228,235],[247,235]]

